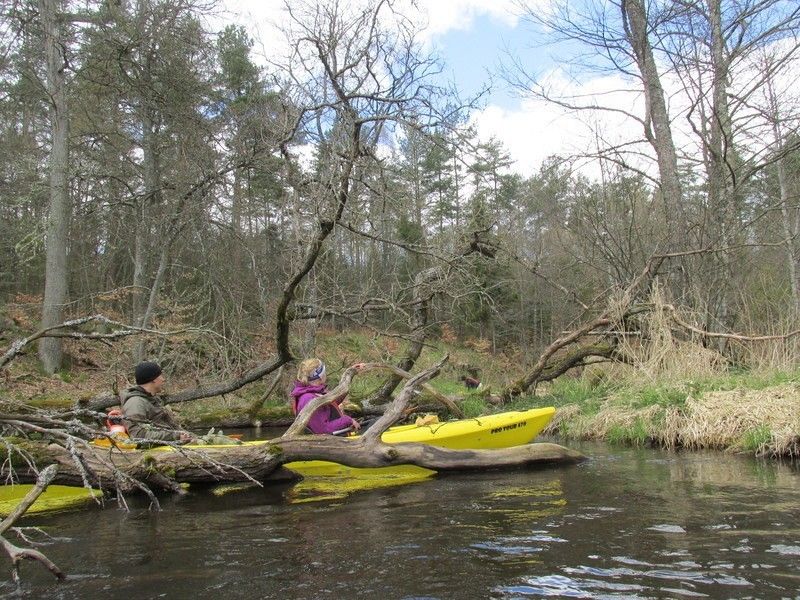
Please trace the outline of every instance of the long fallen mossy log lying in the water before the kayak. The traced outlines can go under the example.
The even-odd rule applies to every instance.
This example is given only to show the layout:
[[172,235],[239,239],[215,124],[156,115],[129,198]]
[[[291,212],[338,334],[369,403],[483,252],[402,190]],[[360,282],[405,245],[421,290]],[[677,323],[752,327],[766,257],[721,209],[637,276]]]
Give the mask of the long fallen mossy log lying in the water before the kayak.
[[[58,465],[53,483],[134,491],[138,482],[152,489],[175,490],[178,483],[280,481],[296,478],[282,468],[293,461],[328,460],[352,467],[417,465],[439,472],[574,464],[579,452],[549,443],[500,450],[449,450],[427,444],[384,444],[364,438],[301,435],[258,445],[174,447],[170,450],[73,449],[51,444],[42,448]],[[40,454],[41,455],[41,454]],[[76,461],[78,457],[80,460]],[[78,467],[78,463],[83,468]],[[36,480],[32,470],[18,469],[21,481]]]

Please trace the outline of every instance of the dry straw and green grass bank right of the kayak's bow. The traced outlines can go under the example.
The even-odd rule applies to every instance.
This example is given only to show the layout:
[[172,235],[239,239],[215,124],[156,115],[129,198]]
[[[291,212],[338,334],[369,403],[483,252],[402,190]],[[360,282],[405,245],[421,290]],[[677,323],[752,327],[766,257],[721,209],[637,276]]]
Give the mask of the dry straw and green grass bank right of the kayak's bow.
[[554,386],[542,400],[558,406],[545,433],[565,443],[603,440],[766,457],[800,456],[800,382],[782,374],[638,389],[627,383],[591,390],[585,382],[573,381]]

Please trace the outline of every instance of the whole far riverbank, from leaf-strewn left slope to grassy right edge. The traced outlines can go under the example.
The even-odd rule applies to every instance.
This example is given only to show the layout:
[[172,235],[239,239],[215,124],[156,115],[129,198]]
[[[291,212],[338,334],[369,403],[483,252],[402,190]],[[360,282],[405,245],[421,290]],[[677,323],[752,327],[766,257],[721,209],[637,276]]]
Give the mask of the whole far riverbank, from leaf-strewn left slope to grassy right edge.
[[[385,341],[384,341],[385,342]],[[56,376],[38,371],[35,356],[14,361],[4,371],[3,400],[38,408],[66,408],[110,389],[128,385],[126,348],[113,352],[87,342],[69,342],[70,367]],[[555,419],[545,433],[571,440],[603,440],[632,446],[715,449],[757,456],[800,455],[800,373],[778,369],[731,372],[724,362],[703,349],[691,354],[673,349],[683,360],[664,361],[659,372],[620,365],[593,365],[580,375],[568,374],[535,394],[511,404],[497,404],[496,392],[523,374],[526,357],[519,352],[493,353],[481,340],[458,342],[443,336],[426,349],[418,368],[450,356],[447,366],[431,383],[439,392],[458,399],[468,417],[491,412],[554,405]],[[400,343],[381,343],[367,332],[320,331],[317,354],[327,363],[335,381],[346,366],[359,361],[388,360]],[[688,358],[688,360],[687,360]],[[529,360],[530,357],[527,357]],[[168,367],[169,369],[169,367]],[[168,390],[208,383],[216,375],[169,369]],[[482,380],[468,390],[465,375]],[[219,378],[225,374],[219,374]],[[294,370],[287,367],[278,380],[270,375],[235,393],[173,408],[187,427],[286,426],[293,416],[287,390]],[[377,373],[356,378],[351,400],[356,405],[382,384]],[[422,403],[436,407],[423,396]]]

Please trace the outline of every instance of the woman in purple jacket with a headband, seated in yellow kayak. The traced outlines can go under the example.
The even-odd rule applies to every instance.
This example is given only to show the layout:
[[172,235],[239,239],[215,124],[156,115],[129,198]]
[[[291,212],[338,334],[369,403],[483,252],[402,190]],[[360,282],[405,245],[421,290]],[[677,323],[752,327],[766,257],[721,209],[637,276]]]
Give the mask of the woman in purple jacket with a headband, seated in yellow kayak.
[[[325,363],[318,358],[307,358],[297,369],[297,381],[292,390],[292,411],[295,415],[311,402],[328,393],[328,377]],[[350,431],[358,431],[361,425],[352,417],[344,414],[341,404],[347,394],[336,398],[330,404],[319,407],[308,420],[308,428],[312,433],[329,433],[342,435]]]

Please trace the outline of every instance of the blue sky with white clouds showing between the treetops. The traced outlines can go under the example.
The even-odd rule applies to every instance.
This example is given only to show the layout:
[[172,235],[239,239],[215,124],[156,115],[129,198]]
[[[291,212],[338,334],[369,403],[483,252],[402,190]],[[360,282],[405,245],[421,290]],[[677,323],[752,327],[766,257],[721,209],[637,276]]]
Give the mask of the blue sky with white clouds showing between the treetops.
[[[275,23],[285,23],[284,0],[220,1],[227,10],[220,17],[220,25],[228,22],[245,25],[262,56],[282,54],[278,45],[282,37],[276,35]],[[364,1],[340,0],[343,6]],[[492,92],[473,113],[471,123],[482,139],[495,138],[503,144],[515,161],[512,170],[530,175],[551,155],[584,156],[586,158],[580,159],[577,168],[596,177],[600,163],[593,154],[597,148],[625,145],[630,151],[626,154],[628,162],[654,172],[652,148],[642,143],[641,117],[645,107],[640,85],[613,70],[570,72],[570,55],[575,50],[586,49],[544,45],[541,34],[516,14],[516,0],[393,1],[395,8],[424,25],[420,41],[429,44],[445,61],[445,73],[456,82],[462,95],[474,94],[494,75]],[[533,7],[531,10],[542,12],[552,0],[525,1]],[[582,0],[568,1],[570,8],[582,5]],[[605,5],[600,1],[592,6]],[[537,82],[552,96],[570,99],[573,104],[599,105],[612,110],[568,110],[532,95],[520,97],[498,77],[497,67],[508,59],[507,52],[525,66],[529,75],[534,74]],[[743,72],[733,77],[733,81],[746,82],[754,73],[758,74],[757,65],[743,64],[740,68]],[[796,70],[787,70],[779,82],[781,97],[795,97],[795,80],[800,67],[793,65],[791,68]],[[670,104],[676,143],[687,154],[696,153],[698,140],[686,119],[693,100],[669,65],[664,65],[661,83]],[[627,115],[637,117],[633,119]],[[756,145],[761,143],[756,137],[749,141]],[[635,145],[629,145],[631,143]]]

